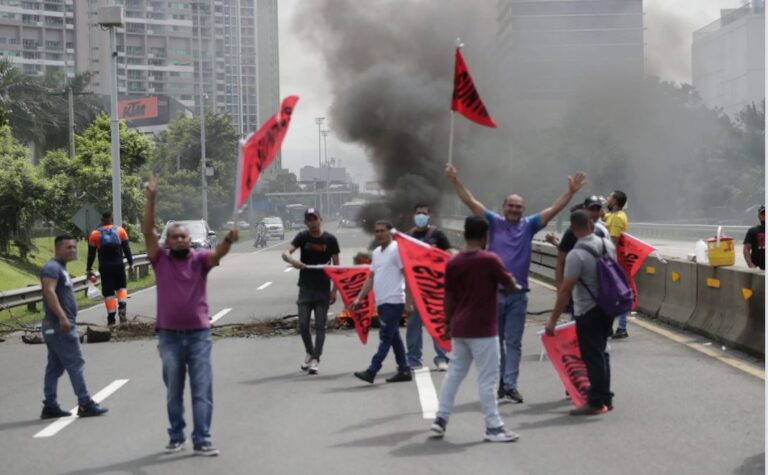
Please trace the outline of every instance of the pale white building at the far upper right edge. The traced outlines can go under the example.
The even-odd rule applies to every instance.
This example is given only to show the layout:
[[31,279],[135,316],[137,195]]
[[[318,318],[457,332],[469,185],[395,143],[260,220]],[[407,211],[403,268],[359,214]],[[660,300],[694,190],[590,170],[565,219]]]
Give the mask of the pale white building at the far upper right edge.
[[721,10],[693,33],[693,86],[710,108],[734,117],[765,99],[765,3]]

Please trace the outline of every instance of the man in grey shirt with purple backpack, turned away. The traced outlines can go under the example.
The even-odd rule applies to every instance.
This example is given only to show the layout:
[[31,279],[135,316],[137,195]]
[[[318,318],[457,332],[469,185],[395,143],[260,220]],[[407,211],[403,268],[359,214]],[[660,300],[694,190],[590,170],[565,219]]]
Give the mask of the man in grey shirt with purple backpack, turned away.
[[616,262],[616,248],[610,239],[596,236],[593,229],[594,223],[585,210],[571,214],[571,230],[578,241],[565,258],[563,282],[545,328],[547,335],[554,336],[557,320],[573,297],[576,335],[590,383],[587,403],[573,409],[573,416],[598,415],[613,409],[606,344],[613,318],[632,305],[632,291]]

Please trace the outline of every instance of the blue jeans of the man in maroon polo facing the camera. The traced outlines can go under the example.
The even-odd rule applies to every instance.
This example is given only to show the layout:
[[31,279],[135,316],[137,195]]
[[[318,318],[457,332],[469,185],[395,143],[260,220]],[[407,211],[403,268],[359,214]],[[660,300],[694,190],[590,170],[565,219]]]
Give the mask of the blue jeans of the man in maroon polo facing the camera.
[[163,360],[163,382],[166,387],[171,440],[184,440],[184,379],[189,370],[192,389],[192,419],[195,424],[192,442],[210,444],[213,416],[213,371],[211,369],[211,331],[188,333],[159,330],[158,345]]

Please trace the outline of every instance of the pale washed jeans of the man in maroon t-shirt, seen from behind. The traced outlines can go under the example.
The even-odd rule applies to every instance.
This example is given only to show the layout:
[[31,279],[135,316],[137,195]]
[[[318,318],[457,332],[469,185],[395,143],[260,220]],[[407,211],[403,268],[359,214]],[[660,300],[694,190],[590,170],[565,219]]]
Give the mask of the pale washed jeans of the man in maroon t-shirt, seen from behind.
[[448,367],[448,374],[440,388],[440,405],[437,417],[446,421],[451,415],[453,402],[459,385],[469,372],[469,365],[474,359],[477,363],[477,386],[480,391],[480,407],[485,416],[485,426],[495,429],[504,425],[499,417],[496,401],[496,381],[499,379],[499,338],[454,338],[453,359]]

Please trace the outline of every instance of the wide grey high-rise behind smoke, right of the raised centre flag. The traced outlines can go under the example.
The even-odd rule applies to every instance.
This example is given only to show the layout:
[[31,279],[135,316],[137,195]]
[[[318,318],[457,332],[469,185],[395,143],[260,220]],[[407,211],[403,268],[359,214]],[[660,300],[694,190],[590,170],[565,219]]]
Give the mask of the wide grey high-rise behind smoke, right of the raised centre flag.
[[644,76],[642,0],[498,0],[497,27],[502,100],[540,125],[589,88]]

